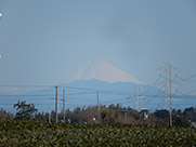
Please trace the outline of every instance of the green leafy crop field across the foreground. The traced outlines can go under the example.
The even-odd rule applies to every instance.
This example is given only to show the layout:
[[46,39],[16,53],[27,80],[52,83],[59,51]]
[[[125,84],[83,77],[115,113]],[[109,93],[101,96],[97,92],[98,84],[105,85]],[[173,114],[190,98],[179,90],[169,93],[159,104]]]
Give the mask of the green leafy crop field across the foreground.
[[196,129],[12,121],[0,122],[0,146],[196,147]]

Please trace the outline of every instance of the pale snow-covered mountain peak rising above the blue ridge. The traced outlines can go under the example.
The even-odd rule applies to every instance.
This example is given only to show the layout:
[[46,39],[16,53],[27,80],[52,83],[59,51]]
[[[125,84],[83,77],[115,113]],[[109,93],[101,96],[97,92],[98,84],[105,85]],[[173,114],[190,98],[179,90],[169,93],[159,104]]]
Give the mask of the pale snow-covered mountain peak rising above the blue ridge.
[[144,84],[133,76],[116,68],[105,61],[87,63],[81,68],[79,68],[74,78],[71,78],[71,81],[91,79],[102,80],[106,82],[133,82],[136,84]]

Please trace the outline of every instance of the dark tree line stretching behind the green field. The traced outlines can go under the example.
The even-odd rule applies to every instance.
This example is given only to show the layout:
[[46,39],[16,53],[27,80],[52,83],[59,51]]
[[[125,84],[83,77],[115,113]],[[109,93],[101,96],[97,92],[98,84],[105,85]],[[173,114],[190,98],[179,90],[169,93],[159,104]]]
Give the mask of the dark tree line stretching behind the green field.
[[[0,110],[0,121],[41,121],[41,122],[55,122],[55,111],[40,112],[36,109],[34,104],[26,104],[26,102],[18,102],[14,104],[16,113],[8,112],[3,109]],[[75,108],[74,110],[66,109],[65,112],[58,113],[58,122],[65,123],[122,123],[122,124],[169,124],[169,111],[159,109],[156,111],[141,110],[138,111],[131,107],[122,107],[117,105],[101,105],[89,106],[82,108]],[[196,108],[185,108],[172,110],[173,125],[190,126],[196,123]]]

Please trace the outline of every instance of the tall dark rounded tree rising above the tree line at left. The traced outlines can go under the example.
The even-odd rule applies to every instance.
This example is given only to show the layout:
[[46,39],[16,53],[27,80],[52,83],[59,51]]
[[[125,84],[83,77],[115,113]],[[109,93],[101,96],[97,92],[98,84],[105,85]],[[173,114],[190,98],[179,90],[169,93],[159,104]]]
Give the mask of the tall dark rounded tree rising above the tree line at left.
[[34,104],[26,104],[25,101],[18,101],[17,104],[14,104],[14,108],[17,110],[14,120],[32,120],[34,115],[38,111]]

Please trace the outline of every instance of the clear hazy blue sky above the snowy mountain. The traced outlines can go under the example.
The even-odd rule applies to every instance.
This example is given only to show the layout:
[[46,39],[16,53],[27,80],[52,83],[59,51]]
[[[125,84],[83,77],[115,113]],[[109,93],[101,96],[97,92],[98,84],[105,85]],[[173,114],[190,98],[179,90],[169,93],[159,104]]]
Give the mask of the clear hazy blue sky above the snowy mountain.
[[50,84],[107,61],[152,84],[196,74],[195,0],[0,0],[0,84]]

